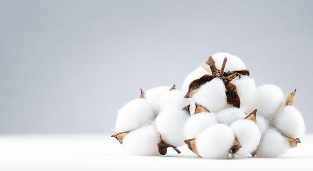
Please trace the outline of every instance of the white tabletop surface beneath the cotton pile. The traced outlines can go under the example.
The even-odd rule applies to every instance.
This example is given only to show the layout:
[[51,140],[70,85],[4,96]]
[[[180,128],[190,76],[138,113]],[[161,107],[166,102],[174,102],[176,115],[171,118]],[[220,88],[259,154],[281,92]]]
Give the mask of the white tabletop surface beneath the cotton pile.
[[313,171],[313,134],[280,158],[209,160],[179,150],[129,156],[105,134],[0,135],[0,171]]

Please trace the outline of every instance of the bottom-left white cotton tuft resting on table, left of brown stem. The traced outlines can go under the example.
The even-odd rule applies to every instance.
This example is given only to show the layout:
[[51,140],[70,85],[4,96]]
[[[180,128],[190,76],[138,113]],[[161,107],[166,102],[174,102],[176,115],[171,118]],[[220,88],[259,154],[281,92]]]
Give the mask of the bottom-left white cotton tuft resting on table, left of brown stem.
[[123,139],[126,153],[131,155],[160,155],[157,149],[159,134],[154,125],[130,131]]

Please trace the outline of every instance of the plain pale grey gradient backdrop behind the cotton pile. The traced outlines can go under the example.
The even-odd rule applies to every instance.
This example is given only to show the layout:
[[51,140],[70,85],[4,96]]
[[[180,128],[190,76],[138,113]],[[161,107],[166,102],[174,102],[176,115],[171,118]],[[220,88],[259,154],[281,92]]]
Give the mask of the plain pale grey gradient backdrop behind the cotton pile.
[[111,132],[139,88],[180,86],[209,55],[297,88],[313,131],[312,0],[0,0],[0,133]]

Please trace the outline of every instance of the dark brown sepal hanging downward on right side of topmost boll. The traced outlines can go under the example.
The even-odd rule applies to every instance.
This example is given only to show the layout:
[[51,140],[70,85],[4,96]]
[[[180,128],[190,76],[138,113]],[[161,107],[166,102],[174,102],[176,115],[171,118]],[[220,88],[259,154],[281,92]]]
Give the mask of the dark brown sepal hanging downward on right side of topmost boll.
[[227,104],[230,107],[240,107],[240,97],[237,92],[236,85],[231,81],[225,84]]

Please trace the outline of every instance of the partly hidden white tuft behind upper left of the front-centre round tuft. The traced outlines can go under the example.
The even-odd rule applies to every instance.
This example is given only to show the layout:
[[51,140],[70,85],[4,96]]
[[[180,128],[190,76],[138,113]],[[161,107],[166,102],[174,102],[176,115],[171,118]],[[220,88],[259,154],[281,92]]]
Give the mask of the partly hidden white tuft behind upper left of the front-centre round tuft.
[[185,126],[185,139],[196,138],[200,132],[213,124],[217,124],[213,113],[200,112],[189,117]]

